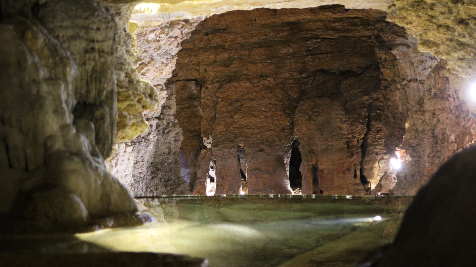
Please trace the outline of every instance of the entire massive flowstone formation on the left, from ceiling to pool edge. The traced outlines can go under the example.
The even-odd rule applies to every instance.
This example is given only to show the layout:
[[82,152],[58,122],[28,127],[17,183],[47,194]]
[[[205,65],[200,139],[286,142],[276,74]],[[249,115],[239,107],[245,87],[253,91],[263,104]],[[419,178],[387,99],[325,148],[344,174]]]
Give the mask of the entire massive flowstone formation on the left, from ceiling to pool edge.
[[[136,212],[103,162],[116,136],[117,80],[135,72],[120,23],[132,6],[93,0],[0,6],[1,231],[54,230]],[[136,78],[132,83],[141,84]],[[142,88],[129,86],[129,94],[144,95],[133,105],[153,108],[155,91]]]

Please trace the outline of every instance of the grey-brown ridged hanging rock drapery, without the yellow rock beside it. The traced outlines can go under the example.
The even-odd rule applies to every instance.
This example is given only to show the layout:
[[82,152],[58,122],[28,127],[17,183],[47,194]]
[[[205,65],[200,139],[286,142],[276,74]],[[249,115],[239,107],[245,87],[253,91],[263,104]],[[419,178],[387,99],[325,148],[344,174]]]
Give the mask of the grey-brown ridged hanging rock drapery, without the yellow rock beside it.
[[116,79],[111,66],[116,63],[117,24],[99,2],[90,0],[48,1],[37,13],[78,66],[73,114],[94,123],[99,152],[108,157],[116,135]]

